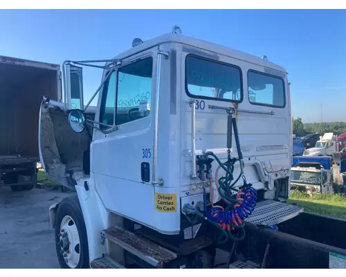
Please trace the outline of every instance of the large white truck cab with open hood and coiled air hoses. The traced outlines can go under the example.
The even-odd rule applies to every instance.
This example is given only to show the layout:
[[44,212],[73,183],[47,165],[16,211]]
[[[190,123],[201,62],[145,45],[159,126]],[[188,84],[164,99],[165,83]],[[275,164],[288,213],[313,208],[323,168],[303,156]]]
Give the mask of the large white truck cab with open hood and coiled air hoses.
[[[50,208],[62,267],[129,267],[127,253],[137,264],[194,267],[197,252],[215,257],[217,244],[242,240],[244,221],[302,212],[284,204],[284,68],[179,27],[132,46],[109,60],[64,62],[65,102],[42,101],[42,167],[78,195]],[[86,105],[81,66],[103,70]]]

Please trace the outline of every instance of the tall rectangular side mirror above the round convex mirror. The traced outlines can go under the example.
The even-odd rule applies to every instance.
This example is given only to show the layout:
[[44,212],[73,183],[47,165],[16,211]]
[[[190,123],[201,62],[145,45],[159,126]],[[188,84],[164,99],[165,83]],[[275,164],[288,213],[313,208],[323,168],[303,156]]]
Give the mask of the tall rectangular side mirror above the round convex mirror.
[[67,109],[84,109],[82,67],[66,64]]

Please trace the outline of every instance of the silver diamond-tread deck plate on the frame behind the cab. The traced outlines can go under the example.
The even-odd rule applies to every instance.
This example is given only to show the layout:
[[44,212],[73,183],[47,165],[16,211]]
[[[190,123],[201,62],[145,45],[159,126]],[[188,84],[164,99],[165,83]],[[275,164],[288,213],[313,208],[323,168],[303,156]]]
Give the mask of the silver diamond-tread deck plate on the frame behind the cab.
[[304,208],[274,200],[257,203],[253,213],[244,220],[255,225],[270,226],[280,224],[304,212]]

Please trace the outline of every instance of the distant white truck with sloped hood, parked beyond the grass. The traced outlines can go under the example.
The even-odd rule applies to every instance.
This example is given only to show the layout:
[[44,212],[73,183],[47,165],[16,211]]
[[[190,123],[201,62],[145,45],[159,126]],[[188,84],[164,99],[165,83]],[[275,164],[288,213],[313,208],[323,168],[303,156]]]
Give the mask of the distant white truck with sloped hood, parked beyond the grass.
[[303,156],[333,156],[338,149],[334,133],[325,133],[313,148],[304,150]]

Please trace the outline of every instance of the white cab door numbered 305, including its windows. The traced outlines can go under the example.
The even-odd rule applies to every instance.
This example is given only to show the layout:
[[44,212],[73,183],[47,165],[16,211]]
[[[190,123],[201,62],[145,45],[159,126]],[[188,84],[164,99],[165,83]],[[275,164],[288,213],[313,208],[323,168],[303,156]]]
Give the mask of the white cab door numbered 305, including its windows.
[[[147,218],[154,203],[154,101],[157,48],[121,61],[100,93],[98,121],[116,125],[94,129],[91,172],[104,206],[137,222]],[[104,134],[106,133],[106,134]]]

